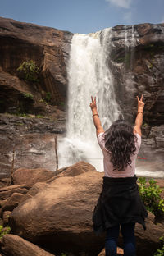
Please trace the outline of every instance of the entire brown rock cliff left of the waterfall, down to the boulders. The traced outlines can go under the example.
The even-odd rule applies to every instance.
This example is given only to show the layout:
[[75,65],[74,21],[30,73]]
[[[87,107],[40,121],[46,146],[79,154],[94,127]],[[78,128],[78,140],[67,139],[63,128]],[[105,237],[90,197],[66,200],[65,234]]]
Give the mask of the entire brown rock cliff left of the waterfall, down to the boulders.
[[[54,138],[65,130],[71,37],[70,32],[0,18],[0,177],[19,167],[56,170]],[[39,67],[36,82],[20,79],[17,71],[30,60]]]

